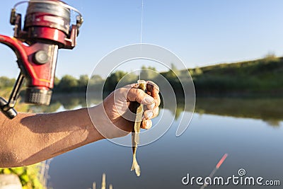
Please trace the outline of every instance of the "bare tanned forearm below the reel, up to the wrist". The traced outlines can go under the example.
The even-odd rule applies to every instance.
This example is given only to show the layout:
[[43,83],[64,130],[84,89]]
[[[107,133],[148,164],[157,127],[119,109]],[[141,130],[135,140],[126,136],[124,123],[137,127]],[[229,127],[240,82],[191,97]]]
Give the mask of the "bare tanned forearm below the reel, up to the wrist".
[[3,119],[0,167],[35,164],[103,138],[93,127],[86,108],[37,115],[20,113],[13,120]]

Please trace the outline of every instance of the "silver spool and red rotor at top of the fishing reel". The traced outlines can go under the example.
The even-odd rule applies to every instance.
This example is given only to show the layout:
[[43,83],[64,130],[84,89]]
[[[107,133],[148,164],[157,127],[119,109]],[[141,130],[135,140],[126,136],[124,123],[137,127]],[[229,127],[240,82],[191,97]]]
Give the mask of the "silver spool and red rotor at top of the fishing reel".
[[[28,3],[25,14],[23,30],[18,22],[16,7],[20,4]],[[71,11],[78,13],[76,25],[71,25]],[[14,37],[25,40],[28,44],[35,42],[48,42],[59,45],[59,48],[72,49],[76,45],[76,36],[83,23],[81,13],[63,1],[59,0],[30,0],[21,1],[16,4],[11,11],[10,23],[15,27]]]

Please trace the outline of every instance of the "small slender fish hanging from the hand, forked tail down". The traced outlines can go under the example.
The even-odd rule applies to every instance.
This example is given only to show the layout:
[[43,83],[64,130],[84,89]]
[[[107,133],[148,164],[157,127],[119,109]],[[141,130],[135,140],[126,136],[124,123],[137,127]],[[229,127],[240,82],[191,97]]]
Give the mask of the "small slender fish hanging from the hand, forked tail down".
[[[146,81],[139,80],[137,81],[139,84],[139,88],[146,92]],[[139,168],[139,164],[137,163],[137,145],[139,144],[139,132],[141,130],[141,120],[142,115],[144,114],[144,105],[137,103],[137,115],[134,120],[134,127],[132,128],[132,151],[133,151],[133,162],[131,171],[135,171],[137,176],[141,175],[141,169]]]

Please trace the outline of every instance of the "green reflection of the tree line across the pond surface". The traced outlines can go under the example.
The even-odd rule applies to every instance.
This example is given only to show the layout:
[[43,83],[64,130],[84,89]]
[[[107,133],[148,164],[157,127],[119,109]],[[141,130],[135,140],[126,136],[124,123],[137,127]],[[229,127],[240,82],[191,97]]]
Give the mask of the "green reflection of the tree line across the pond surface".
[[[93,105],[100,103],[98,96],[99,94],[93,94],[91,98]],[[175,115],[175,120],[178,120],[184,110],[184,99],[177,98],[177,109],[175,105],[170,105],[171,102],[166,103],[169,104],[167,105],[168,110]],[[54,96],[50,106],[31,105],[30,109],[35,113],[52,113],[57,112],[60,108],[72,110],[77,107],[86,107],[86,96],[61,94]],[[267,125],[279,127],[279,122],[283,120],[282,107],[283,98],[197,98],[195,113],[260,119]]]

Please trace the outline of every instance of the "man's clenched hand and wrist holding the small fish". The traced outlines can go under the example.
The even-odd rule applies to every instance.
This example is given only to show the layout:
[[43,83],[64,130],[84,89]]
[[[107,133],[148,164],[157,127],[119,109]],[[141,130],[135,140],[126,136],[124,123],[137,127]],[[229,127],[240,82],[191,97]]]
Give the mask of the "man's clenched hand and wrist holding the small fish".
[[90,108],[91,120],[98,132],[104,138],[123,137],[129,134],[135,118],[130,109],[135,101],[146,106],[141,128],[151,128],[151,119],[158,115],[159,88],[154,82],[146,81],[146,92],[139,89],[138,84],[130,84],[117,88],[103,103]]

